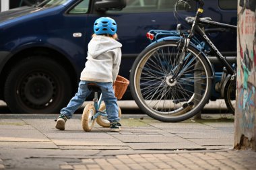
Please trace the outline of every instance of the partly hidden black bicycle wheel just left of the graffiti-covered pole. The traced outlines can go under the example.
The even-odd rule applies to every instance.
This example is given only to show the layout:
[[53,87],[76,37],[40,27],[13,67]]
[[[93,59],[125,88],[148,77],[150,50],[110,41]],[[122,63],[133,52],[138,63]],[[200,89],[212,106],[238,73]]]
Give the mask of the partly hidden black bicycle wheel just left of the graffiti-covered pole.
[[234,114],[236,105],[236,81],[229,80],[224,87],[224,100],[230,114]]

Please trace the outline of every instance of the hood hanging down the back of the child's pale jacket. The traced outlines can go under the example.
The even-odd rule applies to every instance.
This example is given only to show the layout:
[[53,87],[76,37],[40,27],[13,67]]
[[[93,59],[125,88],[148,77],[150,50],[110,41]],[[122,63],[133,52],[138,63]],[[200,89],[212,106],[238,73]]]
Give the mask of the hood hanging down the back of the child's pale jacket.
[[92,58],[115,48],[121,48],[122,44],[107,36],[94,36],[88,44],[88,53]]

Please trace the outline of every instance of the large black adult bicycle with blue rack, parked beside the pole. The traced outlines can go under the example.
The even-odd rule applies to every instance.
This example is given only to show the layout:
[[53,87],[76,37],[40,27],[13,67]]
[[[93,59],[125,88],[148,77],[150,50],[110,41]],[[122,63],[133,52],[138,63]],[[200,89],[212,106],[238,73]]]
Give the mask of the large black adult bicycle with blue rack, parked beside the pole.
[[[162,122],[181,122],[200,112],[210,99],[212,88],[220,91],[226,105],[234,112],[236,68],[220,53],[205,34],[205,26],[236,30],[236,26],[201,17],[203,0],[195,17],[186,17],[191,28],[151,30],[147,38],[154,40],[133,62],[130,73],[131,94],[139,108]],[[178,0],[177,5],[187,3]],[[174,14],[175,15],[175,14]],[[216,56],[224,65],[222,79],[214,86],[214,68],[207,56]]]

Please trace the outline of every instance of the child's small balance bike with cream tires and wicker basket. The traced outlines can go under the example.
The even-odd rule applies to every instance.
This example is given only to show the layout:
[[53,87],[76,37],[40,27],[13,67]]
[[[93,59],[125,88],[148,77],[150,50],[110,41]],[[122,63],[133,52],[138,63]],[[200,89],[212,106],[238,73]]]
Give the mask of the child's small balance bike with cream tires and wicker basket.
[[[117,99],[121,99],[125,93],[129,81],[124,77],[117,76],[115,81],[114,90]],[[82,128],[84,131],[89,132],[94,127],[95,121],[102,127],[110,127],[110,122],[106,120],[106,105],[102,103],[102,95],[98,98],[98,93],[101,92],[100,87],[95,83],[89,83],[88,89],[94,92],[94,103],[86,105],[82,114]],[[119,108],[119,118],[121,118],[121,109]]]

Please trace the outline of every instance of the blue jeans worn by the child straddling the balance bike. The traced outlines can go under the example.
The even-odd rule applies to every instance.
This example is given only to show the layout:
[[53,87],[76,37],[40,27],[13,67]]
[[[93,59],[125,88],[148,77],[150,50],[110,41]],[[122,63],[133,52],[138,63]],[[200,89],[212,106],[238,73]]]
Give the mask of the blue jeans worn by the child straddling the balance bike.
[[68,119],[73,116],[75,110],[81,107],[81,105],[86,100],[86,97],[90,95],[91,91],[88,89],[88,83],[95,83],[100,86],[102,93],[102,100],[106,105],[106,114],[108,115],[108,121],[119,122],[119,108],[117,105],[117,97],[115,97],[113,83],[101,83],[93,81],[80,81],[78,91],[75,93],[75,96],[69,101],[66,108],[61,110],[61,114],[65,114]]

